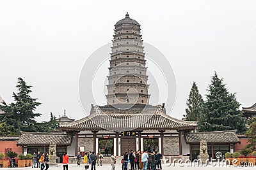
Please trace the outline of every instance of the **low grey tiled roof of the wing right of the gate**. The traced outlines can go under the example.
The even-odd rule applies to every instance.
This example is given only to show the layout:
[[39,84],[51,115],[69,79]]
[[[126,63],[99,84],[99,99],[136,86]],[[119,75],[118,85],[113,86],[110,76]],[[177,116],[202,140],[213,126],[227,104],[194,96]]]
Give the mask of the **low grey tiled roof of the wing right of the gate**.
[[218,131],[218,132],[190,132],[185,134],[186,143],[200,144],[200,141],[207,143],[240,143],[234,131]]

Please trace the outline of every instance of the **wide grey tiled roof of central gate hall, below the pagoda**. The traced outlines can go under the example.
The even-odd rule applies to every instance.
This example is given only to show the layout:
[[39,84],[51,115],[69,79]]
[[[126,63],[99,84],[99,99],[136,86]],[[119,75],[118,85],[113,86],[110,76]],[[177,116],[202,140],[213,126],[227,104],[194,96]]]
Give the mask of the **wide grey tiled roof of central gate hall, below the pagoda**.
[[143,108],[133,107],[129,110],[119,110],[112,106],[94,106],[92,115],[81,120],[61,124],[60,128],[66,131],[196,129],[195,122],[172,118],[163,113],[163,108],[160,105],[148,106],[145,110]]

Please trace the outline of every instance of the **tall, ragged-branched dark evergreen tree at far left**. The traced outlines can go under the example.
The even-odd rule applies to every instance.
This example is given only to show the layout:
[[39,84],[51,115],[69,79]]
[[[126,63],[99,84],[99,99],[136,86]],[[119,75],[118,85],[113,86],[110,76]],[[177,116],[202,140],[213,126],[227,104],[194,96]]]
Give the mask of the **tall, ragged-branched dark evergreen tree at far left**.
[[15,103],[6,104],[4,101],[0,104],[0,110],[4,111],[1,115],[1,121],[8,125],[13,125],[15,129],[21,131],[30,124],[34,124],[35,118],[39,117],[40,113],[34,113],[36,107],[40,105],[38,99],[33,99],[31,94],[31,87],[27,85],[22,78],[18,78],[18,93],[13,92]]

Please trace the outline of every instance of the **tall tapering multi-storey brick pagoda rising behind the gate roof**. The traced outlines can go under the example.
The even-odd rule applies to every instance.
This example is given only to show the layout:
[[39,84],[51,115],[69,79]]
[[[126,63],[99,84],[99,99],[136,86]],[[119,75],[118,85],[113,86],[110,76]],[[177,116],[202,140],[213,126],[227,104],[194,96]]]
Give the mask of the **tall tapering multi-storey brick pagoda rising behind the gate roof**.
[[108,104],[148,104],[148,76],[140,24],[127,13],[115,24]]

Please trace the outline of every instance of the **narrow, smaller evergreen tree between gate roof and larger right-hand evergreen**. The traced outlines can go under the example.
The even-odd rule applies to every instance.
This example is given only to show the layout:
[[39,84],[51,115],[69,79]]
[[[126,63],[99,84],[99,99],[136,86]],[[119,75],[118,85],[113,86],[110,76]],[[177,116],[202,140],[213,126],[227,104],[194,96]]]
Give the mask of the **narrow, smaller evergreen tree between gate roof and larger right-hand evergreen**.
[[198,92],[196,83],[193,82],[191,91],[189,93],[189,98],[186,103],[188,106],[188,108],[186,108],[186,115],[183,115],[186,120],[198,121],[202,103],[204,103],[204,100],[202,99],[201,94]]

